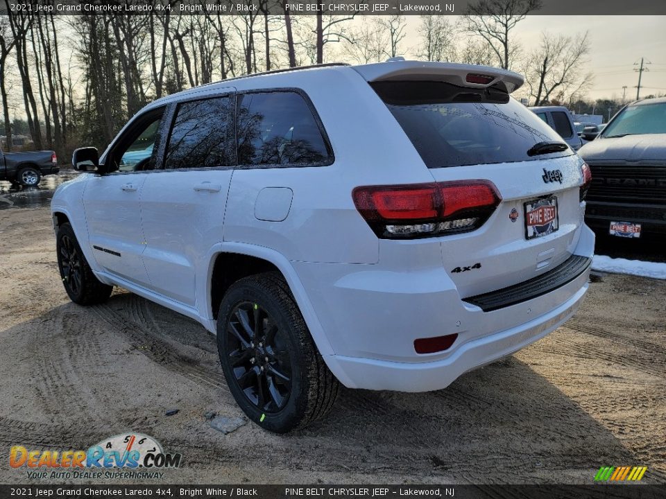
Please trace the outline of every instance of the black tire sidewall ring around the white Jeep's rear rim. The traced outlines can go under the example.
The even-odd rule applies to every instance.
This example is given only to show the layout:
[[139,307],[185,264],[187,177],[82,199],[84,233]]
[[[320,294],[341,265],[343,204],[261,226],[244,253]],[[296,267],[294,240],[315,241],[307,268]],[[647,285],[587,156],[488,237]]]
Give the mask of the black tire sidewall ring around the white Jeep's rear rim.
[[[278,328],[284,334],[284,338],[289,343],[291,393],[289,394],[287,405],[279,412],[263,412],[251,403],[241,387],[239,387],[228,362],[226,344],[227,324],[234,308],[244,301],[251,301],[262,306],[278,325]],[[282,306],[280,298],[273,296],[273,293],[267,290],[259,288],[255,283],[246,281],[234,284],[228,290],[220,306],[217,320],[217,344],[222,371],[227,380],[227,385],[234,399],[236,399],[238,405],[246,415],[259,426],[262,426],[262,428],[273,432],[284,433],[297,426],[307,405],[307,376],[305,376],[305,372],[303,371],[302,362],[299,362],[299,359],[302,358],[302,348],[296,333],[293,331],[293,317]],[[263,421],[262,415],[264,415]]]

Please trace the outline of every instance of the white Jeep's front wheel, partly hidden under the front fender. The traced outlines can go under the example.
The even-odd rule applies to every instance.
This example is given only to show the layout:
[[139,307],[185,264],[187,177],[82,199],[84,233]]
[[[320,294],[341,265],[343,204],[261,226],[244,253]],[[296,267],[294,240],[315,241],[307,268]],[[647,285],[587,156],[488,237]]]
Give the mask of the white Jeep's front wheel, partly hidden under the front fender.
[[62,284],[71,301],[84,306],[96,305],[111,296],[113,286],[101,283],[92,273],[74,229],[67,222],[58,227],[56,249]]

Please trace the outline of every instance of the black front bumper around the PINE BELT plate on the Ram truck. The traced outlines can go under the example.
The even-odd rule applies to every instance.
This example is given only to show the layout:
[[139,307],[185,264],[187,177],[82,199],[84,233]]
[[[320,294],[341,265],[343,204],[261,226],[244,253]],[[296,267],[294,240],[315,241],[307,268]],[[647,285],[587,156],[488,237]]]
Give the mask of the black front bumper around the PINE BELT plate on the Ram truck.
[[588,201],[585,222],[592,229],[608,234],[610,222],[640,224],[642,234],[666,235],[666,206]]

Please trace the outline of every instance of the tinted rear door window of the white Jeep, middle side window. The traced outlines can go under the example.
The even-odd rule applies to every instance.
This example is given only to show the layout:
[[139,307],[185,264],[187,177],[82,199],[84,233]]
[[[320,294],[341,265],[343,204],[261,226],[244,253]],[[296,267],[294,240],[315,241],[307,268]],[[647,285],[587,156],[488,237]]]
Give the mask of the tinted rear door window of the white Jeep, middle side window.
[[235,164],[234,100],[216,97],[178,106],[164,168]]

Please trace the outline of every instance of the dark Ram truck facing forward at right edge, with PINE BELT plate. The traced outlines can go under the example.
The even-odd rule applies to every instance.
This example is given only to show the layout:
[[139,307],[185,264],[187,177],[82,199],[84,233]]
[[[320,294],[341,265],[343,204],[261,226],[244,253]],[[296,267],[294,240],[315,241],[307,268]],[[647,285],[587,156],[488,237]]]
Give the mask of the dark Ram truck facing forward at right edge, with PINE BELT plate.
[[625,238],[666,235],[666,98],[627,105],[580,155],[594,177],[590,227]]

